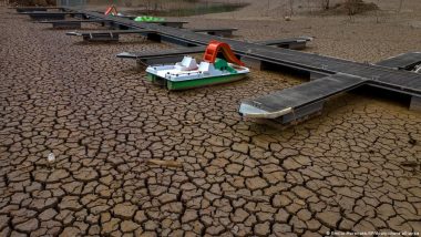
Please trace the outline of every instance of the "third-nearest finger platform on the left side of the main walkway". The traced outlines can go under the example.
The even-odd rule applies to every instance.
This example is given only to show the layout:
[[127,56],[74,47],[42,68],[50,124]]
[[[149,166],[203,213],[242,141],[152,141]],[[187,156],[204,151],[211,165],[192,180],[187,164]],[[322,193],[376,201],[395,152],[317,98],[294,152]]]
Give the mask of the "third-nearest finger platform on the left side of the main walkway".
[[106,31],[89,31],[89,32],[66,32],[66,35],[82,37],[83,41],[89,42],[110,42],[119,41],[120,34],[155,34],[156,31],[153,30],[106,30]]

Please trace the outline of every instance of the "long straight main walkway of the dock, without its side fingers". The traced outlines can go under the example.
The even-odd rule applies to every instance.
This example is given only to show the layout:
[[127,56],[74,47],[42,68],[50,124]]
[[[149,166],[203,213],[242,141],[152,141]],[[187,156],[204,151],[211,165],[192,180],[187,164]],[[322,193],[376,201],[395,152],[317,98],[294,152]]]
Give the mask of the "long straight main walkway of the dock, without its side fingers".
[[[147,29],[158,32],[162,37],[171,37],[182,42],[207,45],[215,39],[214,35],[206,35],[192,32],[189,30],[174,29],[157,24],[134,22],[117,17],[103,16],[96,12],[79,11],[91,18],[114,20],[120,24],[129,28]],[[325,74],[343,73],[361,76],[373,81],[374,84],[391,86],[393,90],[402,93],[414,93],[421,95],[421,74],[412,72],[397,71],[384,66],[352,62],[349,60],[337,59],[314,53],[305,53],[281,48],[273,48],[256,43],[242,42],[232,39],[223,39],[232,49],[242,56],[249,56],[264,62],[287,65],[309,72],[319,72]]]

